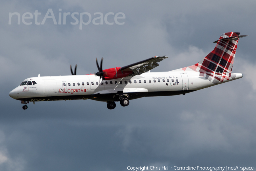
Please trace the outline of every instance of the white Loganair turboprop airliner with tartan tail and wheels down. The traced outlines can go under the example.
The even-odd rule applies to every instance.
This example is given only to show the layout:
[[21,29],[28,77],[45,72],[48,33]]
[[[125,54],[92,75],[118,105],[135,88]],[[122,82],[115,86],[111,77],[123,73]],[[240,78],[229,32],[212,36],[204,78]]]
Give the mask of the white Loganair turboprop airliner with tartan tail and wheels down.
[[98,72],[71,76],[47,76],[25,79],[9,95],[20,100],[23,109],[29,102],[92,99],[107,102],[108,109],[128,106],[129,101],[140,97],[185,95],[192,91],[242,78],[232,73],[238,40],[245,35],[228,32],[220,36],[214,50],[195,65],[169,72],[150,72],[167,56],[155,56],[131,65],[102,69],[103,58],[96,65]]

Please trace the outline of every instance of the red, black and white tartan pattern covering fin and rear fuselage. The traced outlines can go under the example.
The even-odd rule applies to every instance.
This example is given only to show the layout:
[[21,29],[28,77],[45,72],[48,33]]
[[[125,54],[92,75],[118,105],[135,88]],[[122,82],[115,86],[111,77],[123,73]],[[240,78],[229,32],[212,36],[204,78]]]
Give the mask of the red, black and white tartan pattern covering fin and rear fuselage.
[[224,79],[235,78],[236,74],[231,72],[239,38],[228,38],[239,35],[239,32],[222,34],[212,52],[197,64],[182,68],[182,70],[185,71],[190,68],[193,71],[200,72],[199,77],[205,77],[214,84],[223,82]]

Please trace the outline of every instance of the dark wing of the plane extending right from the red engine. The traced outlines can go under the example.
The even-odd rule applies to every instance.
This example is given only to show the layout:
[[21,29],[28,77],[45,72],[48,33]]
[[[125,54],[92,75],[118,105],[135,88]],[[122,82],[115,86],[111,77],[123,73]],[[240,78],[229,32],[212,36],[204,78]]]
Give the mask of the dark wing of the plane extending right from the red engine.
[[131,65],[123,66],[120,68],[121,71],[132,71],[134,75],[141,75],[144,72],[152,70],[153,68],[159,66],[158,62],[168,58],[168,56],[155,56],[152,58],[148,58],[146,60],[136,62]]

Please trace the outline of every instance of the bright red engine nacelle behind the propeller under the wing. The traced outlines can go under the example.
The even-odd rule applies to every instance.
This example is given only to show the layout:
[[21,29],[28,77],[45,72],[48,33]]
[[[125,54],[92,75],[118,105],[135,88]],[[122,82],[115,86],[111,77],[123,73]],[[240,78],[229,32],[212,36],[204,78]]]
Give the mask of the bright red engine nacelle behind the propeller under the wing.
[[109,68],[109,69],[103,70],[102,72],[104,72],[103,76],[105,80],[123,78],[133,74],[132,71],[121,71],[120,68],[121,67],[119,68],[116,67],[116,68]]

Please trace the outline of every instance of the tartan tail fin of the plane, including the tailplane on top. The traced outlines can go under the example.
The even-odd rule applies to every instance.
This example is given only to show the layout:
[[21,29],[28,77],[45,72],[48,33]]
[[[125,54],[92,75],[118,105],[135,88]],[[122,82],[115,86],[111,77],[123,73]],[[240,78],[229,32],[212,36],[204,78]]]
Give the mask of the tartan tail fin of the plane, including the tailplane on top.
[[236,54],[239,32],[228,32],[220,36],[214,50],[210,52],[203,60],[195,65],[189,66],[194,71],[199,72],[217,72],[231,73]]

